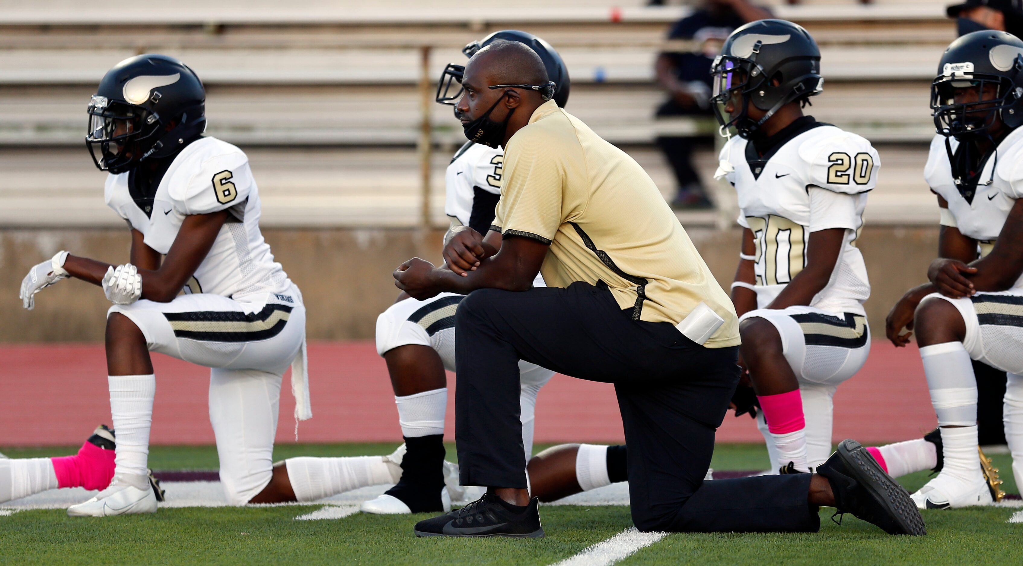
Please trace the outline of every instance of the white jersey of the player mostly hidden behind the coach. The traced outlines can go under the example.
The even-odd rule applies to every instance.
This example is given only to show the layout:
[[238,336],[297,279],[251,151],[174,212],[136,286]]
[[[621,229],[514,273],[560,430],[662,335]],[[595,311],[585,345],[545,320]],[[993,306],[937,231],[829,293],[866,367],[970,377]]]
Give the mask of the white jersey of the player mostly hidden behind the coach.
[[[487,235],[501,196],[503,167],[501,148],[469,142],[458,149],[444,175],[444,214],[451,219],[451,228],[472,226]],[[533,286],[544,286],[540,274]]]

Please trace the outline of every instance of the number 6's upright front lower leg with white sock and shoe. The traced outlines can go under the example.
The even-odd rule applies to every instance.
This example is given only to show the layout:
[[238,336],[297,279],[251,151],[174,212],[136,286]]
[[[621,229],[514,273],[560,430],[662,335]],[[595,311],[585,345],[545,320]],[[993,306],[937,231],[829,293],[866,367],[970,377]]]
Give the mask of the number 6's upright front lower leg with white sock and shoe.
[[69,508],[71,516],[157,511],[157,497],[147,469],[157,379],[146,336],[135,322],[116,309],[106,318],[110,416],[118,431],[114,480],[95,498]]

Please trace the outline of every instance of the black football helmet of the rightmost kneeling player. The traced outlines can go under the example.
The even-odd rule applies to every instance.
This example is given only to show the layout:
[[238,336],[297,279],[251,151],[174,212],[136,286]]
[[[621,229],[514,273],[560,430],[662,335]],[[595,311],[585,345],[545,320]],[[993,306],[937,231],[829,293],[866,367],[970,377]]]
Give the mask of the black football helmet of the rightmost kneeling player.
[[[957,91],[975,89],[957,103]],[[931,83],[934,127],[945,137],[984,137],[995,116],[1010,128],[1023,124],[1023,41],[985,30],[953,41],[938,62]]]

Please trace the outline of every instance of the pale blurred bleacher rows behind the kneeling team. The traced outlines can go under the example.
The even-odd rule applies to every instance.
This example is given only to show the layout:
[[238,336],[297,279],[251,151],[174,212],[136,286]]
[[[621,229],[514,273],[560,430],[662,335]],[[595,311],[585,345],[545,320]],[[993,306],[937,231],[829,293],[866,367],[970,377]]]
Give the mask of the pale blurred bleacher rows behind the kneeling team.
[[[920,179],[933,133],[928,84],[954,36],[940,3],[813,0],[772,4],[821,46],[826,91],[811,111],[881,147],[882,186],[869,219],[927,223],[933,198]],[[0,1],[0,226],[116,226],[99,194],[102,174],[82,147],[85,104],[102,74],[140,52],[182,58],[209,88],[209,132],[251,154],[271,226],[414,226],[420,207],[415,143],[421,120],[420,49],[433,83],[458,48],[490,31],[532,31],[559,47],[573,80],[570,111],[635,155],[666,196],[673,181],[652,147],[663,94],[653,62],[685,6],[528,0],[508,7],[413,2],[188,0],[118,7]],[[443,223],[443,168],[461,133],[431,104],[432,219]],[[698,154],[710,182],[712,152]],[[45,175],[40,175],[45,171]],[[719,191],[729,218],[729,195]],[[933,217],[933,218],[932,218]]]

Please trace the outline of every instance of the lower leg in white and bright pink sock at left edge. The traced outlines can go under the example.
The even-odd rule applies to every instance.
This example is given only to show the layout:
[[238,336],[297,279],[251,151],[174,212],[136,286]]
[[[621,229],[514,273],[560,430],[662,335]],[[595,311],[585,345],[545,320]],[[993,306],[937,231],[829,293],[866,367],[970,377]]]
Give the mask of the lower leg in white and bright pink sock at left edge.
[[0,457],[0,503],[58,487],[103,489],[114,478],[114,431],[99,425],[75,456]]

